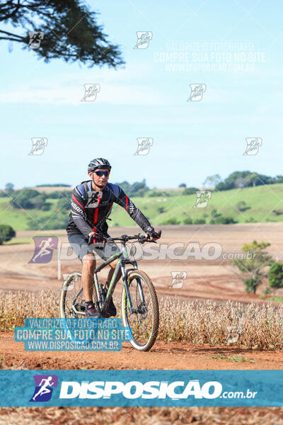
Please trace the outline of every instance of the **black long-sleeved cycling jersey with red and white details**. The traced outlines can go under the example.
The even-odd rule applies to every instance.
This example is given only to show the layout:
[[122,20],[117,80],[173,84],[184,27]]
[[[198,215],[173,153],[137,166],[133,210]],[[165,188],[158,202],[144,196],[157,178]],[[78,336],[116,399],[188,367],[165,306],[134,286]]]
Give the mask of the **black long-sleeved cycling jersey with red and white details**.
[[117,184],[107,183],[103,191],[94,191],[92,181],[83,181],[74,188],[71,200],[67,234],[83,234],[86,238],[90,232],[107,233],[109,217],[113,203],[125,208],[130,217],[146,232],[151,227],[132,200],[128,198]]

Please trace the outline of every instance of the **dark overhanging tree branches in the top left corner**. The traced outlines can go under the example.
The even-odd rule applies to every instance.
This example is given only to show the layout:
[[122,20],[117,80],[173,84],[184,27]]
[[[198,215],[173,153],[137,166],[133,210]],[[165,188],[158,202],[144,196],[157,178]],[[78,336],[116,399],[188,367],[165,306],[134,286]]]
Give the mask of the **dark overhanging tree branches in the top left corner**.
[[[44,38],[33,52],[45,62],[62,58],[116,68],[125,62],[117,45],[108,42],[102,26],[96,23],[98,13],[90,11],[80,0],[6,0],[1,1],[0,21],[18,28],[19,34],[0,30],[0,40],[21,43],[28,48],[29,31],[42,31]],[[10,50],[11,51],[11,50]]]

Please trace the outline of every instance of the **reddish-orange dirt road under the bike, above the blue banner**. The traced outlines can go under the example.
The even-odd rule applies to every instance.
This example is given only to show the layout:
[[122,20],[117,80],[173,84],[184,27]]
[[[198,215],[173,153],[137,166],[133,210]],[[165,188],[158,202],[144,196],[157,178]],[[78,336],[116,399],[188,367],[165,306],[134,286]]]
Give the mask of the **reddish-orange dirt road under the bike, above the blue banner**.
[[[1,331],[0,353],[5,368],[27,369],[282,369],[282,351],[256,351],[232,346],[209,346],[156,341],[149,352],[129,343],[121,351],[25,351],[13,331]],[[230,356],[229,361],[221,356]],[[213,358],[214,356],[218,358]],[[243,358],[241,361],[236,361]],[[232,359],[231,359],[232,360]]]

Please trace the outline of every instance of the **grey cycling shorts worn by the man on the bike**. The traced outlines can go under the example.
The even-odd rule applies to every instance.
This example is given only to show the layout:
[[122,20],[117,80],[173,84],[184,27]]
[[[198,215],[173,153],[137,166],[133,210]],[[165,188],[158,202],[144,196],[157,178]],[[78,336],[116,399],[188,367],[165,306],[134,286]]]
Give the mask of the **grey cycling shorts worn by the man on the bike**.
[[[107,234],[107,237],[110,237],[109,234]],[[83,234],[69,234],[68,239],[72,249],[80,260],[82,260],[86,254],[93,254],[93,251],[103,260],[108,260],[110,256],[120,252],[119,246],[115,243],[96,244],[96,246],[95,244],[88,245],[88,239],[86,239]],[[96,257],[93,255],[93,259],[96,259]]]

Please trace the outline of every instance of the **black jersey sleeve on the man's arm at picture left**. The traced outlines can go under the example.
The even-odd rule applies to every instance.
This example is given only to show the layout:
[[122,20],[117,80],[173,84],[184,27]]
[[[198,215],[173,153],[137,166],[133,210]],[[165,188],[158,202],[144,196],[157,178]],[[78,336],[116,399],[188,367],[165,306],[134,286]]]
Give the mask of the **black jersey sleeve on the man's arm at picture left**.
[[84,188],[83,185],[79,184],[74,188],[71,196],[71,217],[79,231],[85,237],[88,237],[88,233],[93,232],[93,229],[86,222],[85,204]]

